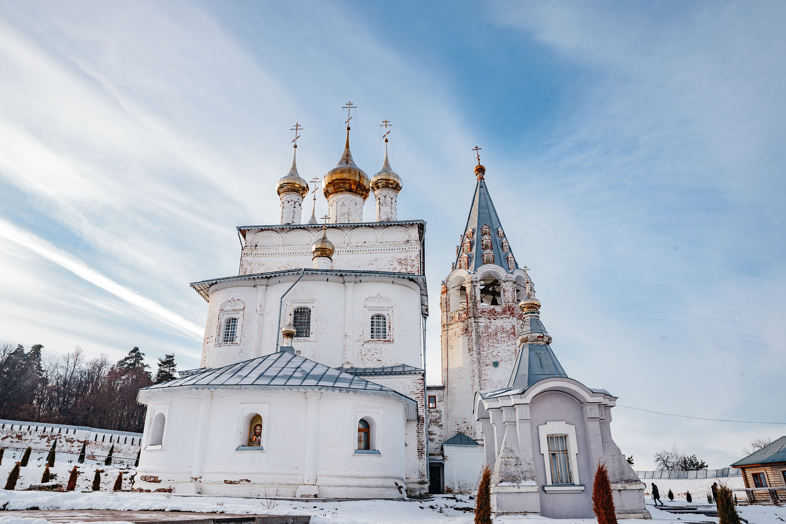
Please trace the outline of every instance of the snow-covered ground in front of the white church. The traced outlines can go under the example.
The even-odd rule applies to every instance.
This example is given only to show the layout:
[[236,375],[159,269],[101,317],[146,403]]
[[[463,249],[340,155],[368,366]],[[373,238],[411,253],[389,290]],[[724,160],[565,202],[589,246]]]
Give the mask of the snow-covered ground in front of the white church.
[[[7,503],[7,504],[6,504]],[[433,500],[358,500],[347,502],[312,502],[309,500],[270,500],[244,497],[184,496],[167,493],[50,493],[35,491],[0,491],[0,507],[7,510],[156,510],[233,513],[241,515],[312,515],[313,524],[471,524],[475,500],[468,495],[441,495]],[[684,500],[667,502],[669,507],[707,508],[706,504],[686,504]],[[706,515],[674,515],[648,502],[652,518],[659,524],[718,522]],[[750,524],[782,524],[786,507],[737,506],[740,516]],[[2,514],[0,514],[2,515]],[[0,524],[47,524],[31,519],[11,521],[0,517]],[[537,515],[502,517],[495,524],[515,524],[520,520],[549,520]],[[564,519],[560,524],[593,524],[595,519]],[[93,521],[91,524],[97,524]],[[641,524],[624,520],[620,524]]]

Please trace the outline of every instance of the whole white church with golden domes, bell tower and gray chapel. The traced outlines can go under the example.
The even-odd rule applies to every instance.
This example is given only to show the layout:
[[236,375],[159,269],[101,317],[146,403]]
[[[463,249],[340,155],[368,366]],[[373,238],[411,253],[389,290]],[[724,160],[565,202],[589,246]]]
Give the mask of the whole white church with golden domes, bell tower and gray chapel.
[[[191,285],[208,302],[200,368],[139,391],[134,488],[425,497],[472,492],[488,464],[495,514],[591,518],[601,460],[618,516],[648,518],[645,485],[612,440],[616,398],[560,366],[479,158],[442,284],[443,385],[425,384],[425,222],[397,217],[387,139],[379,173],[355,164],[349,120],[321,181],[325,224],[313,211],[301,223],[311,188],[293,153],[276,186],[281,224],[238,227],[239,274]],[[370,195],[376,217],[364,221]]]

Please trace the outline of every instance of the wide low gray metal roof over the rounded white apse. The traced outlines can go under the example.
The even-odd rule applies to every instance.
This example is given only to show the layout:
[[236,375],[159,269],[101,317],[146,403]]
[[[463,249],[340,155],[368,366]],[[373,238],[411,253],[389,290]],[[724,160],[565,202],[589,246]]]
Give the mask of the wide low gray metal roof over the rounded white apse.
[[152,384],[142,390],[165,388],[316,389],[388,395],[405,403],[407,419],[417,418],[417,402],[376,382],[355,377],[286,351],[271,353],[222,368],[204,369],[185,377]]

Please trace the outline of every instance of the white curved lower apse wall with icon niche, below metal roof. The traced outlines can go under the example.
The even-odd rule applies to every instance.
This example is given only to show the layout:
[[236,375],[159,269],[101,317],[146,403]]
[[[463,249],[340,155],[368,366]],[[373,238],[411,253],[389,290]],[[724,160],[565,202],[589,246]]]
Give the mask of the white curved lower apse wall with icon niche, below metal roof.
[[[307,409],[309,395],[316,409]],[[404,497],[406,446],[400,435],[406,414],[395,398],[203,389],[158,390],[145,402],[146,447],[137,482],[142,489],[193,489],[192,477],[200,477],[202,493],[260,496],[277,488],[281,496],[294,497],[311,472],[320,497]],[[152,421],[162,411],[163,442],[151,447]],[[248,438],[246,419],[253,413],[263,417],[263,449],[237,450]],[[373,420],[372,449],[379,454],[354,453],[361,417]]]

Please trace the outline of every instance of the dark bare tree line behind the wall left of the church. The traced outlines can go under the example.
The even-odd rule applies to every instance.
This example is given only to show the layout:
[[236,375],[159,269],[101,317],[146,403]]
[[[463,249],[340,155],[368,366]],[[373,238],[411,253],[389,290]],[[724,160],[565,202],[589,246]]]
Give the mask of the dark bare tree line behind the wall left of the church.
[[152,377],[139,348],[114,363],[106,355],[87,359],[79,346],[60,357],[42,349],[0,345],[0,418],[141,432],[137,391],[177,377],[174,355],[159,358]]

